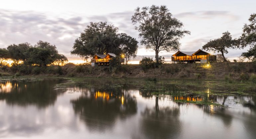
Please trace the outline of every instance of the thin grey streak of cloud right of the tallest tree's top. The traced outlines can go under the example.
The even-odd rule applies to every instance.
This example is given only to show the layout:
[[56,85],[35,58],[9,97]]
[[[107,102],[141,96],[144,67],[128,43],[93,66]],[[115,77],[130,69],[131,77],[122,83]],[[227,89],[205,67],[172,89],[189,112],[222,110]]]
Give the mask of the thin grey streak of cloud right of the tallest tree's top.
[[214,18],[227,18],[230,21],[239,20],[239,16],[232,14],[229,11],[197,11],[197,12],[185,12],[175,14],[176,18],[196,18],[196,19],[214,19]]

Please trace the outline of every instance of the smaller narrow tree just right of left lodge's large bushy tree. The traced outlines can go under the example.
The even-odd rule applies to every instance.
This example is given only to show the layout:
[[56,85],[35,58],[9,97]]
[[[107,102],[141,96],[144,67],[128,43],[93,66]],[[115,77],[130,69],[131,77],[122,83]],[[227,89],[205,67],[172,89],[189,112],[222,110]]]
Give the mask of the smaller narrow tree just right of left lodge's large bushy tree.
[[125,55],[125,64],[127,64],[131,58],[136,57],[137,49],[139,47],[138,41],[125,33],[119,34],[119,39],[120,48],[122,53]]

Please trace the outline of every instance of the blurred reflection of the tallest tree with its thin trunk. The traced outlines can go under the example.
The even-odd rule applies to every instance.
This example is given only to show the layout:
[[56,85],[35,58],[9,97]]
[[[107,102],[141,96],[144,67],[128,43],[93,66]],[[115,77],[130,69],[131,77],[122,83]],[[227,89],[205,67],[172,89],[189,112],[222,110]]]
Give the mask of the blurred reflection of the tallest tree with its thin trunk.
[[154,108],[146,108],[142,112],[142,133],[146,138],[164,139],[175,138],[181,131],[181,123],[179,120],[180,109],[176,108],[159,108],[158,99],[156,97],[156,105]]

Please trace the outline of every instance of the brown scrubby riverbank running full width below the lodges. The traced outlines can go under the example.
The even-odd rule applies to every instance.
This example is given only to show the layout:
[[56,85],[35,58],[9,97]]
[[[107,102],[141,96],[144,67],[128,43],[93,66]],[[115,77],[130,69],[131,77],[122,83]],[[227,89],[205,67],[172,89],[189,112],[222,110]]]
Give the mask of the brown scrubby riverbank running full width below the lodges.
[[0,70],[2,76],[37,77],[112,77],[112,78],[162,78],[196,80],[255,80],[256,62],[210,63],[210,64],[163,64],[159,68],[146,69],[141,65],[121,67],[91,67],[74,65],[48,67],[8,67]]

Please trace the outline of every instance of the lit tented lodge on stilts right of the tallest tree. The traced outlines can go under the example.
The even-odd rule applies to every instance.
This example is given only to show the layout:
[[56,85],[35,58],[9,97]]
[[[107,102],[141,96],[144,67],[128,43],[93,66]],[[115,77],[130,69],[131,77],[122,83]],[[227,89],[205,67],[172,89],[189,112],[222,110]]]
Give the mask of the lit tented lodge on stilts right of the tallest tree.
[[192,52],[178,51],[172,55],[172,63],[205,63],[216,62],[216,56],[201,49]]

